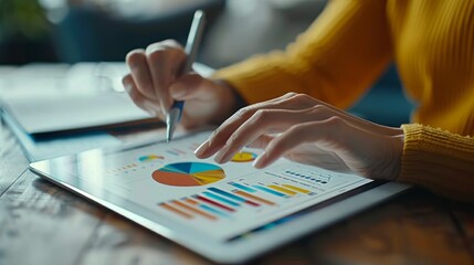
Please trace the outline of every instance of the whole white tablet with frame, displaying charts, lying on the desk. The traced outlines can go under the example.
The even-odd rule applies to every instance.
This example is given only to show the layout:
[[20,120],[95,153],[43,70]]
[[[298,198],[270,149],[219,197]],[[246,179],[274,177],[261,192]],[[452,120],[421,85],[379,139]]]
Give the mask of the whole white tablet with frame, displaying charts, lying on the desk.
[[197,159],[209,131],[33,162],[30,170],[214,262],[241,263],[380,203],[409,186],[244,148],[224,165]]

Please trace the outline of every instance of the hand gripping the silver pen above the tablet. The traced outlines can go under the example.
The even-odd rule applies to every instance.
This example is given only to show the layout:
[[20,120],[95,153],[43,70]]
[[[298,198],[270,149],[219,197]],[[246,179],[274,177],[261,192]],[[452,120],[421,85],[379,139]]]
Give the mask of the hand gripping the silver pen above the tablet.
[[181,73],[186,53],[172,40],[134,50],[126,62],[130,74],[123,78],[134,103],[165,119],[173,100],[186,100],[181,124],[185,128],[220,124],[238,108],[235,94],[222,82],[196,73]]

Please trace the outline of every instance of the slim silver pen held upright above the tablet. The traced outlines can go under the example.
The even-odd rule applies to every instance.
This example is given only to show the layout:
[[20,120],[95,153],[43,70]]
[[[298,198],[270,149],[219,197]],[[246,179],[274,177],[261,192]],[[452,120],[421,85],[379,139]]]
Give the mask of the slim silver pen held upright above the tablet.
[[[192,19],[191,28],[189,30],[188,40],[186,42],[185,52],[188,55],[186,65],[182,71],[183,74],[189,73],[192,70],[196,55],[198,53],[199,44],[201,43],[202,32],[204,30],[204,12],[197,10]],[[166,115],[166,140],[170,141],[175,132],[176,126],[181,119],[182,108],[185,102],[176,100],[171,109]]]

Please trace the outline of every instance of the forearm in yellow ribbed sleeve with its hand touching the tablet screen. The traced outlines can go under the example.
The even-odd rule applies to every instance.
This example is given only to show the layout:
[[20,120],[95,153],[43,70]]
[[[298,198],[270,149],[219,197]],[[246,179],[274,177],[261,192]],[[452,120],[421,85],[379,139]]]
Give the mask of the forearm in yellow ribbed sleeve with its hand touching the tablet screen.
[[196,155],[228,162],[245,146],[263,149],[254,167],[281,157],[366,178],[410,182],[474,201],[474,138],[419,124],[391,128],[289,93],[242,108]]

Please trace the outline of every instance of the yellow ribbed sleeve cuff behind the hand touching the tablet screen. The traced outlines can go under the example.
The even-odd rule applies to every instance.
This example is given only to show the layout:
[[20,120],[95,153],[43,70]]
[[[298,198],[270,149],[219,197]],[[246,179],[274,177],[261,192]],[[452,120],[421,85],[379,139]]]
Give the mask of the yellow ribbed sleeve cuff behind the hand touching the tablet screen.
[[405,138],[398,180],[474,201],[474,137],[419,124],[402,128]]

